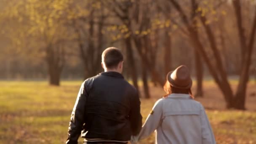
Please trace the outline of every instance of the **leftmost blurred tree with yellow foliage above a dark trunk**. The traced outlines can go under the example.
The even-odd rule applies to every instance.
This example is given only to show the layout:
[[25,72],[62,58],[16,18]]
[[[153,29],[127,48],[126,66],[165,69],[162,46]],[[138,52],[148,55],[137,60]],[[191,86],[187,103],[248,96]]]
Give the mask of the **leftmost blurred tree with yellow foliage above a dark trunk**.
[[[65,64],[67,46],[72,40],[70,30],[67,29],[67,11],[69,0],[35,0],[22,1],[11,5],[8,13],[12,17],[27,23],[25,35],[34,38],[36,46],[33,51],[45,53],[45,62],[48,66],[49,83],[59,85],[61,71]],[[32,39],[31,39],[32,40]]]

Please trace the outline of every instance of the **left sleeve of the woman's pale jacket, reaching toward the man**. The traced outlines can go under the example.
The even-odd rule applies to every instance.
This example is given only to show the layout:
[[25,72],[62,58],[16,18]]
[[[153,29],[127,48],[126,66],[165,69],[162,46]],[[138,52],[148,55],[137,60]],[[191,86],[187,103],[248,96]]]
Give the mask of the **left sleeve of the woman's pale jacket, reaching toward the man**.
[[147,117],[147,120],[145,121],[144,125],[142,126],[141,132],[139,133],[138,136],[136,136],[137,138],[135,138],[135,141],[138,141],[140,139],[145,139],[148,136],[151,135],[151,133],[153,133],[157,127],[160,125],[161,121],[162,121],[162,107],[163,104],[161,102],[162,99],[158,100],[154,107],[152,108],[152,111],[150,112],[150,114]]

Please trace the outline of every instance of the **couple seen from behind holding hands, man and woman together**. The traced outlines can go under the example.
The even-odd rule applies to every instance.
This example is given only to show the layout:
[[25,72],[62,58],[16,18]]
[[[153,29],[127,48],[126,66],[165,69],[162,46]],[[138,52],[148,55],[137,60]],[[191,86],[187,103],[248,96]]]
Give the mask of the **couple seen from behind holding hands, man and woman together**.
[[[142,126],[136,88],[124,80],[123,54],[117,48],[102,53],[105,72],[85,80],[78,93],[67,144],[128,144],[156,130],[156,144],[215,144],[204,107],[193,100],[189,69],[180,66],[167,75],[166,95],[159,99]],[[142,128],[141,128],[142,126]]]

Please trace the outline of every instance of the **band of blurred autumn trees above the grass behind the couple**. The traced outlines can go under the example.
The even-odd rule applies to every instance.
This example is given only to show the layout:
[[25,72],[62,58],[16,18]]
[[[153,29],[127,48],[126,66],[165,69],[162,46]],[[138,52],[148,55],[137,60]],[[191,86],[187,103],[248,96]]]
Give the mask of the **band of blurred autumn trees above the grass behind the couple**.
[[91,77],[101,72],[104,48],[115,46],[125,54],[125,77],[138,89],[142,80],[143,97],[186,64],[195,96],[203,96],[203,75],[211,76],[228,108],[245,109],[256,67],[250,0],[2,0],[0,26],[0,78],[59,85],[61,77]]

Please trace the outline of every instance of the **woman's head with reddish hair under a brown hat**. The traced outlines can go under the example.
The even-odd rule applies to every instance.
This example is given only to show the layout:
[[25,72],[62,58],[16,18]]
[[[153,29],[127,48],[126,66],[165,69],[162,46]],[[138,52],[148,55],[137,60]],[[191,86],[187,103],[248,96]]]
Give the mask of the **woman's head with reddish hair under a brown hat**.
[[174,71],[169,72],[166,79],[167,81],[163,87],[166,92],[165,97],[171,93],[182,93],[190,94],[193,98],[191,92],[192,79],[186,66],[181,65]]

